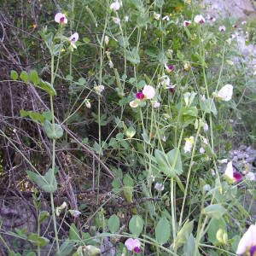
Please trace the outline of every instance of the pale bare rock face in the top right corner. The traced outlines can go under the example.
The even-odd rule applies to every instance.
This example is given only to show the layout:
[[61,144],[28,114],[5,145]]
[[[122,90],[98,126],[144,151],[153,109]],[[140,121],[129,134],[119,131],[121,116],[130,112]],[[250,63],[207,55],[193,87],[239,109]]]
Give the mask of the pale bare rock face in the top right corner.
[[203,3],[208,5],[209,14],[230,16],[237,19],[247,19],[256,17],[254,0],[204,0]]

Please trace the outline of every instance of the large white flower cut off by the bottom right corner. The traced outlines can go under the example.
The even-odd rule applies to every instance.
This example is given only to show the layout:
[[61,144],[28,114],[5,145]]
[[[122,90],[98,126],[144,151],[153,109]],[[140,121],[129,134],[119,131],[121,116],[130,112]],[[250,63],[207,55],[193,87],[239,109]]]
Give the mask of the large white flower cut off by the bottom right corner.
[[256,224],[250,225],[239,241],[236,254],[243,254],[246,252],[248,252],[248,255],[252,256],[256,253]]

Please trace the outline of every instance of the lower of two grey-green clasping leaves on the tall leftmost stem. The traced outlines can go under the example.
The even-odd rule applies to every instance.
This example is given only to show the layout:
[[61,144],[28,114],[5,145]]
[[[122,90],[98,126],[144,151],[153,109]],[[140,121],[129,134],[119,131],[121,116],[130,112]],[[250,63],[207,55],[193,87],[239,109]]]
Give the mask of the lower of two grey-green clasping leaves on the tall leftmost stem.
[[[26,171],[26,173],[31,178],[31,180],[34,183],[37,183],[38,187],[43,189],[45,192],[51,193],[55,192],[57,189],[57,181],[51,169],[49,169],[48,172],[44,174],[44,176],[31,171]],[[53,181],[52,184],[50,183],[51,179]]]

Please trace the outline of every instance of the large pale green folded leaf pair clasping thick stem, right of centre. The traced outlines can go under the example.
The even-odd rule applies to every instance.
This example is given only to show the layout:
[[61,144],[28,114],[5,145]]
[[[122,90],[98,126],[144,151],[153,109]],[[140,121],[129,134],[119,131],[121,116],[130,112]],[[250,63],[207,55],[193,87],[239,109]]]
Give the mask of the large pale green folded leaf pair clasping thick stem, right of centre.
[[168,177],[175,177],[183,173],[183,166],[180,152],[173,148],[167,154],[159,149],[154,150],[154,156],[159,166],[159,170]]

